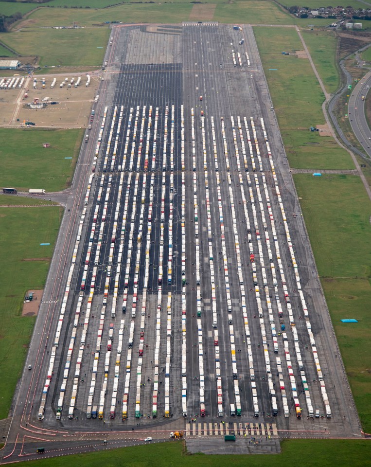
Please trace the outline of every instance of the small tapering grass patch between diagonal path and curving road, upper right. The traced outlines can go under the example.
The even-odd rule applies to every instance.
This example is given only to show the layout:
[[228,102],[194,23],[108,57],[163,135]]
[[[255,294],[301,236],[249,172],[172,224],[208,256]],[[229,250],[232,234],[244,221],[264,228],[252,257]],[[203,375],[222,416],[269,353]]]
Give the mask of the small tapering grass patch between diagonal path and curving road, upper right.
[[302,36],[326,91],[333,93],[339,86],[336,67],[337,38],[333,31],[302,31]]

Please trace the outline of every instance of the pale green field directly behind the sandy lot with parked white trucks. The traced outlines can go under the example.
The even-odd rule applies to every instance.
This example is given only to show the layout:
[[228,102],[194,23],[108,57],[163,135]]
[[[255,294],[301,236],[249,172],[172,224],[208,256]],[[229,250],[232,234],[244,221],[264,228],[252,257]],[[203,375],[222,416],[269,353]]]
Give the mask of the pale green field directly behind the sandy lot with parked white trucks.
[[[53,10],[54,15],[57,11],[64,10]],[[0,40],[15,49],[18,54],[39,55],[40,66],[100,66],[108,37],[108,28],[95,28],[93,31],[88,28],[22,29],[10,34],[0,34]]]

